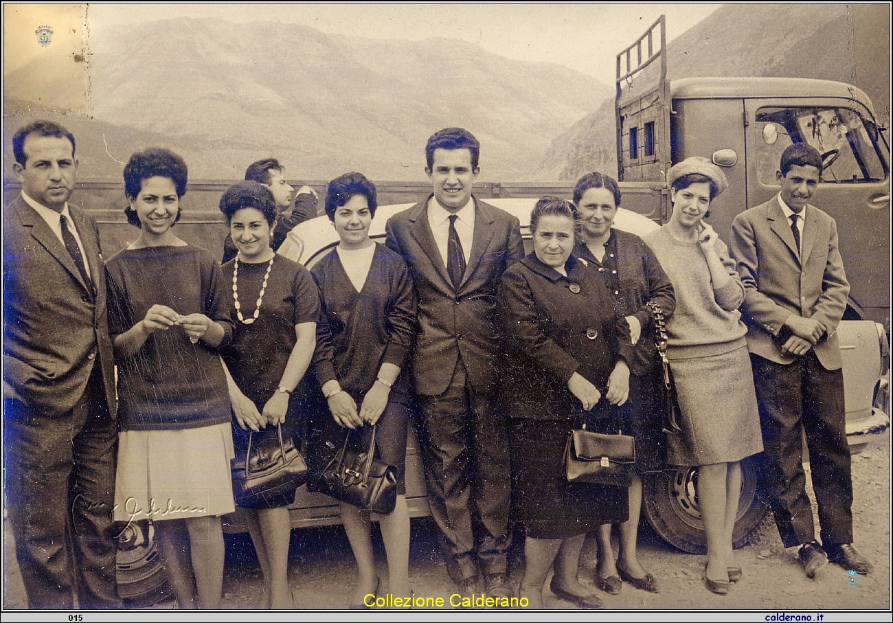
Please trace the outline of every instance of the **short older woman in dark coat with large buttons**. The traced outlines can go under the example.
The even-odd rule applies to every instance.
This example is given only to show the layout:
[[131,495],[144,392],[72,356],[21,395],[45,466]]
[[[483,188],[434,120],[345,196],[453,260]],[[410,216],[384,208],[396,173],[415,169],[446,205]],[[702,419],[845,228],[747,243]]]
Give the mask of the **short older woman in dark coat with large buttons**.
[[572,255],[575,227],[573,204],[540,199],[530,214],[533,253],[505,270],[499,289],[513,503],[527,536],[521,596],[531,608],[542,607],[553,561],[553,594],[602,607],[577,578],[580,548],[588,531],[629,514],[625,487],[569,483],[563,468],[572,428],[583,419],[616,424],[632,357],[596,267]]

